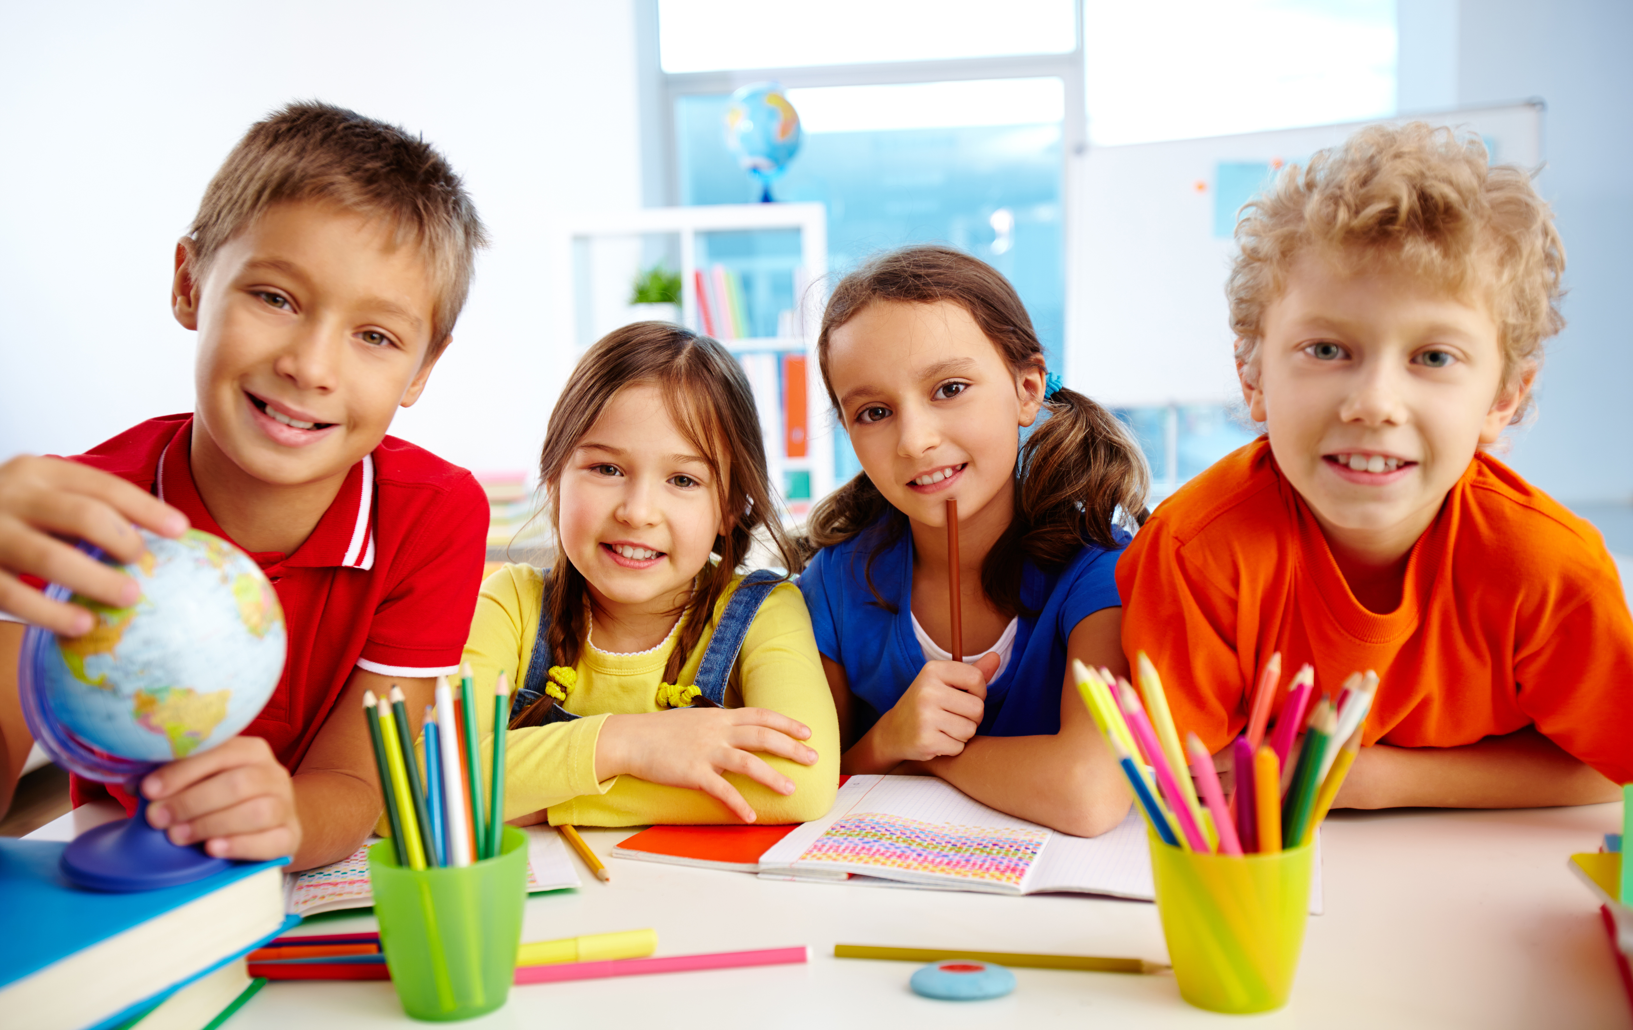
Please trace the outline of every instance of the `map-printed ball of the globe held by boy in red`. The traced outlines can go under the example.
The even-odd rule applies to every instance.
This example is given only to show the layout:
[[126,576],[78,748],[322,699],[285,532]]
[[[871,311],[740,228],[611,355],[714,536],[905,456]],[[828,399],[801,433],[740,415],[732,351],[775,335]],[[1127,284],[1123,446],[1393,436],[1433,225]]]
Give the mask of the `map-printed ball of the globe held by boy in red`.
[[142,597],[122,609],[73,597],[96,624],[54,637],[36,676],[83,743],[168,762],[235,736],[266,705],[284,668],[284,612],[260,566],[220,537],[142,537],[147,553],[122,566]]

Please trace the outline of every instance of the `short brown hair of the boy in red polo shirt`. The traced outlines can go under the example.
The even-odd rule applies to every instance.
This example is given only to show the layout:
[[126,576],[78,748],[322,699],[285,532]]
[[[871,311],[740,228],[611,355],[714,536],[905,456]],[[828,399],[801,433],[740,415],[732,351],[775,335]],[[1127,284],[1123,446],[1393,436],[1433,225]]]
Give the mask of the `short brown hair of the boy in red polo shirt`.
[[193,237],[198,274],[266,209],[327,201],[395,225],[431,266],[438,297],[426,361],[441,354],[465,297],[487,230],[470,194],[436,147],[405,129],[315,100],[250,126],[204,189]]

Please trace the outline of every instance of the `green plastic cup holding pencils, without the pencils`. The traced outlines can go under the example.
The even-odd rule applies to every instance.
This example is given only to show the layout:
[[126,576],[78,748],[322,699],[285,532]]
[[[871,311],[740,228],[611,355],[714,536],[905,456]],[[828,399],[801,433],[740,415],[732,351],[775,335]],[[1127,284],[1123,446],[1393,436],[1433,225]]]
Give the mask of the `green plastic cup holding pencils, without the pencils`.
[[403,868],[380,841],[369,847],[369,888],[403,1012],[447,1022],[505,1004],[527,901],[527,834],[506,826],[496,859],[462,868]]

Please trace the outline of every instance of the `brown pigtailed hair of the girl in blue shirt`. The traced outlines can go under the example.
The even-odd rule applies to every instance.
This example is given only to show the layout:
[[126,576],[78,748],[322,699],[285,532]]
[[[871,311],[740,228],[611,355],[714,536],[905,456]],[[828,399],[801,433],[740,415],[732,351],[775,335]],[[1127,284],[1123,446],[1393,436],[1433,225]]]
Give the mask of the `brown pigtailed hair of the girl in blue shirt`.
[[[841,279],[823,312],[816,361],[834,411],[839,398],[828,372],[834,330],[875,302],[937,300],[967,310],[1014,372],[1043,367],[1032,318],[998,269],[950,246],[903,246]],[[1110,411],[1065,387],[1050,393],[1043,408],[1048,418],[1021,446],[1014,521],[981,563],[981,591],[1011,615],[1027,612],[1021,602],[1022,558],[1039,568],[1060,568],[1088,542],[1115,548],[1117,511],[1141,517],[1150,486],[1140,446]],[[831,547],[870,529],[877,539],[867,557],[867,584],[880,604],[892,607],[874,586],[872,566],[906,532],[906,516],[885,499],[867,472],[816,504],[805,544],[810,550]]]

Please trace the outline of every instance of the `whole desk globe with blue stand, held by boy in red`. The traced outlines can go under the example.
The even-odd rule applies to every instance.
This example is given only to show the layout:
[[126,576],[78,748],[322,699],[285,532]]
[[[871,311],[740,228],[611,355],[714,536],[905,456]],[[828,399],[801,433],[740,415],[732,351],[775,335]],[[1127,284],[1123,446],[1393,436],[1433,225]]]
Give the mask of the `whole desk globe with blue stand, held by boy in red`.
[[[147,553],[121,566],[142,589],[136,604],[72,596],[95,615],[91,630],[70,638],[29,627],[18,661],[23,715],[41,748],[70,772],[132,793],[160,764],[248,726],[278,689],[287,651],[278,594],[248,555],[196,529],[142,539]],[[60,586],[46,593],[70,599]],[[150,828],[145,800],[134,818],[82,834],[62,855],[64,873],[95,890],[173,886],[225,865]]]

